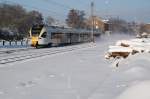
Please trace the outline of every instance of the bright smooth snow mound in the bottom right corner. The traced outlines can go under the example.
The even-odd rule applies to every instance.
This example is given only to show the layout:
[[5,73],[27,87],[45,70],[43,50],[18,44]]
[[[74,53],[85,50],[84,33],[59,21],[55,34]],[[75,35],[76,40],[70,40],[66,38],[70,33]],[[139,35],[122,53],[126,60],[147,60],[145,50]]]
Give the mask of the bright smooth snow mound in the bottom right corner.
[[117,99],[150,99],[150,81],[140,82],[132,85],[124,91]]

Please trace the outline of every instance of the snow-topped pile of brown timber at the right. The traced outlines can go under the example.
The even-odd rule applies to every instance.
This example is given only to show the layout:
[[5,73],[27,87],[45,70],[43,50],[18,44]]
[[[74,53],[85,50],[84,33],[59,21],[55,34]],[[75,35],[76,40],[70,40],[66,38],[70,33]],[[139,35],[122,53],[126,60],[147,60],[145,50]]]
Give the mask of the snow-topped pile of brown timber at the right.
[[108,53],[105,55],[106,59],[111,57],[128,57],[130,54],[150,52],[150,38],[119,40],[115,46],[109,46]]

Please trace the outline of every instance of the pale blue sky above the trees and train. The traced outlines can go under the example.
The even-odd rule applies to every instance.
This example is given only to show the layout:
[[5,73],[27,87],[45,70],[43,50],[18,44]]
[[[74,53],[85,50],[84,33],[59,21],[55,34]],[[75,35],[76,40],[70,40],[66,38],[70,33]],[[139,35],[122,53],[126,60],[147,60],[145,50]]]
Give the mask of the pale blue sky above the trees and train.
[[0,0],[17,3],[28,10],[38,10],[44,17],[52,16],[64,21],[70,9],[84,10],[90,16],[90,3],[94,1],[94,14],[104,19],[119,17],[127,21],[150,23],[150,0]]

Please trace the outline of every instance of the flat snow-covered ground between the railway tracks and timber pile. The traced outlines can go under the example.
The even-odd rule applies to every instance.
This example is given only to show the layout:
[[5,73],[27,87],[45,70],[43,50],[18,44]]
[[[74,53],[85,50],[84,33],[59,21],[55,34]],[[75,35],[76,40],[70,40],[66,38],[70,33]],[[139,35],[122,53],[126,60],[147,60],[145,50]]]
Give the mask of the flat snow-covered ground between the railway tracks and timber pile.
[[104,58],[109,45],[125,38],[133,36],[102,36],[69,52],[0,64],[0,99],[135,99],[134,85],[149,87],[150,54],[128,57],[118,68]]

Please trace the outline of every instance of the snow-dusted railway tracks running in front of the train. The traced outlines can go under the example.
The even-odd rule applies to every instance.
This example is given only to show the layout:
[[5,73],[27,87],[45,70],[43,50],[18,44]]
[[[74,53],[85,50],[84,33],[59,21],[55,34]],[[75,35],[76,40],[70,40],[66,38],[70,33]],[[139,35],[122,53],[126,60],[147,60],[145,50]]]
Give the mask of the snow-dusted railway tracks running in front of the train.
[[[15,53],[15,54],[9,54],[9,56],[6,57],[0,57],[0,64],[9,64],[9,63],[15,63],[18,61],[24,61],[28,59],[33,58],[39,58],[43,56],[53,55],[53,54],[59,54],[64,52],[70,52],[77,49],[83,49],[91,47],[88,45],[82,45],[82,46],[69,46],[69,47],[62,47],[62,48],[47,48],[47,49],[37,49],[37,50],[26,50],[21,51],[21,53]],[[12,56],[13,55],[13,56]]]

